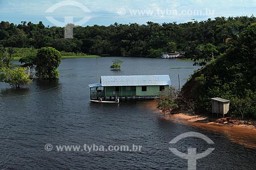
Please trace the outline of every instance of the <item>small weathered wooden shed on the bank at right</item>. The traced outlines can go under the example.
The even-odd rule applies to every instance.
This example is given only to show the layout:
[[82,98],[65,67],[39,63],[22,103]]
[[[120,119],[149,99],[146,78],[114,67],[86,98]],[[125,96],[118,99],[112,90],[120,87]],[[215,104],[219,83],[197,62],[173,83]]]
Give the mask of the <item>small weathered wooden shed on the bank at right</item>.
[[225,114],[227,114],[229,110],[229,102],[226,99],[221,98],[211,98],[211,112],[217,113],[217,114],[223,114],[223,117]]

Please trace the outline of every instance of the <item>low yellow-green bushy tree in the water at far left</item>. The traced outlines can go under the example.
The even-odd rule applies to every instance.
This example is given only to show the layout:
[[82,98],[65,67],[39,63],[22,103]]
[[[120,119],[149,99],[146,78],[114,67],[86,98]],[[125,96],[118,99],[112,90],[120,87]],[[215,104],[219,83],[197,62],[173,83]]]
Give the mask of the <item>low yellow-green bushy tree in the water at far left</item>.
[[0,81],[10,84],[17,88],[29,85],[32,80],[29,78],[27,68],[20,67],[17,69],[2,68],[0,73]]

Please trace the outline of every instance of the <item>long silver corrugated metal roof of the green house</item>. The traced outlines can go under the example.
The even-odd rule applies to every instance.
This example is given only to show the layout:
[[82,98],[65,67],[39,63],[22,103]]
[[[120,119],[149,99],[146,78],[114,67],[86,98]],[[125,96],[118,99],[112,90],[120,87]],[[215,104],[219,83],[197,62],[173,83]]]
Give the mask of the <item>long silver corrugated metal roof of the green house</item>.
[[101,76],[101,85],[108,86],[170,86],[168,75],[154,76]]

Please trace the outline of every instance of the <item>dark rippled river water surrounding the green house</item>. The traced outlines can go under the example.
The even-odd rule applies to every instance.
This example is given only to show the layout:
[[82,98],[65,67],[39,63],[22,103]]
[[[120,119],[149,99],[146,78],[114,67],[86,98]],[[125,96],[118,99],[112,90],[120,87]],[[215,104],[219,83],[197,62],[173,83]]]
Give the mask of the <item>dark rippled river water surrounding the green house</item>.
[[[98,75],[169,75],[181,85],[193,62],[121,58],[121,71],[110,71],[115,58],[98,58]],[[96,58],[66,59],[58,81],[34,80],[27,89],[0,84],[0,169],[187,169],[187,160],[171,153],[168,142],[184,132],[200,132],[214,152],[197,161],[198,169],[255,169],[256,152],[216,132],[165,120],[152,102],[99,105],[89,102],[88,84],[97,83]],[[39,93],[38,93],[39,92]],[[47,152],[45,145],[142,145],[141,152]],[[212,145],[185,138],[172,147],[203,152]]]

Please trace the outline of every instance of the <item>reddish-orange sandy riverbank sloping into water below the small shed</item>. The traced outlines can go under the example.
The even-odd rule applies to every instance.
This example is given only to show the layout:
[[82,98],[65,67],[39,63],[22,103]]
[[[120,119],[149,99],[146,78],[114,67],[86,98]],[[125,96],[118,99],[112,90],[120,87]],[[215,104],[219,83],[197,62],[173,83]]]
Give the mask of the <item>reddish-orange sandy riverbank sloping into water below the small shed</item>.
[[226,135],[233,142],[239,143],[248,148],[256,149],[256,128],[253,125],[228,126],[216,123],[214,122],[214,119],[209,117],[194,116],[183,111],[171,116],[165,115],[164,118],[201,129],[220,132]]

